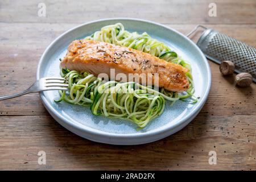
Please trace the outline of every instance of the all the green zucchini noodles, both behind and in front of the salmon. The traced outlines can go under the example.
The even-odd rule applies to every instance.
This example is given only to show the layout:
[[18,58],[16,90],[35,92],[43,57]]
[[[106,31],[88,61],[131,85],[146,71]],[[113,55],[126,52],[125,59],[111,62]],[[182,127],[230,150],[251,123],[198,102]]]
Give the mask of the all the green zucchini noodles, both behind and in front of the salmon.
[[[195,88],[191,75],[191,65],[186,63],[176,52],[166,44],[152,39],[146,32],[126,31],[121,23],[102,27],[87,40],[112,43],[146,53],[150,53],[168,62],[180,64],[189,70],[186,76],[189,89],[183,93],[171,92],[160,88],[159,92],[137,82],[104,81],[88,72],[79,73],[60,68],[60,75],[68,84],[68,91],[59,91],[60,99],[69,104],[90,106],[94,115],[104,115],[110,118],[128,119],[143,128],[152,119],[163,113],[165,101],[173,105],[177,100],[196,103],[193,96]],[[61,59],[60,59],[61,61]]]

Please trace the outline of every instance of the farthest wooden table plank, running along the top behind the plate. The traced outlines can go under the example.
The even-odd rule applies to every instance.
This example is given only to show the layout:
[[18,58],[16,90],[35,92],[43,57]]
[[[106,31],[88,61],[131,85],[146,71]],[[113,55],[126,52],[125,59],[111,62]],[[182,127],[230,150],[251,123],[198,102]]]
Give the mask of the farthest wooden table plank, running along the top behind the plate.
[[199,1],[43,1],[46,17],[38,16],[42,1],[1,1],[1,22],[84,23],[102,18],[130,17],[154,20],[159,23],[255,23],[254,0],[216,0],[217,17],[208,14],[211,0]]

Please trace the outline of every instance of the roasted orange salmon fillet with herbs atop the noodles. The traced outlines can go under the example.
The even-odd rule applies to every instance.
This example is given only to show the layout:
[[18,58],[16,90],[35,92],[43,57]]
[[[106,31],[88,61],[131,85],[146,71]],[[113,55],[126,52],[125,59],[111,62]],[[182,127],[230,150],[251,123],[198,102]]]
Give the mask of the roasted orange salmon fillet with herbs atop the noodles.
[[110,69],[115,69],[115,75],[125,73],[127,77],[129,73],[138,73],[146,75],[144,77],[151,80],[147,82],[149,85],[151,83],[154,85],[155,80],[154,76],[148,76],[147,73],[152,75],[158,73],[160,88],[174,92],[183,92],[189,88],[185,76],[188,72],[187,68],[168,63],[142,51],[94,40],[73,41],[60,66],[79,72],[87,71],[95,76],[106,73],[110,77]]

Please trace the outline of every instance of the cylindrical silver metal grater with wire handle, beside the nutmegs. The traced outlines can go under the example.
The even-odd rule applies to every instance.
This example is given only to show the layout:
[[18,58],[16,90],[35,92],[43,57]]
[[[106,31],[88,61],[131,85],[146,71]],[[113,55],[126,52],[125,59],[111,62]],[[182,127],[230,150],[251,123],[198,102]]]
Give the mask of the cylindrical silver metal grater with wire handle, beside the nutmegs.
[[230,60],[236,65],[235,72],[247,72],[253,76],[256,82],[256,49],[228,35],[203,26],[197,26],[187,36],[190,36],[197,28],[204,28],[197,46],[205,56],[221,64],[224,60]]

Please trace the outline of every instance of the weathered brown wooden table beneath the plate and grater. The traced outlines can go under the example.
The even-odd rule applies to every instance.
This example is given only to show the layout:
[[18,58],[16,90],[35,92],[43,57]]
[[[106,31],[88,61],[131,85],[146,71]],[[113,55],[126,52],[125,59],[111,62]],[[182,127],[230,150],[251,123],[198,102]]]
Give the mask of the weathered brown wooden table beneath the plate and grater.
[[[38,16],[38,3],[46,17]],[[26,89],[46,47],[89,20],[154,20],[187,34],[196,24],[256,47],[256,1],[1,1],[0,94]],[[183,130],[154,143],[112,146],[78,137],[48,114],[38,93],[0,101],[0,169],[256,169],[256,85],[237,88],[209,61],[212,88],[200,114]],[[38,152],[46,151],[46,165]],[[208,163],[216,151],[217,164]]]

